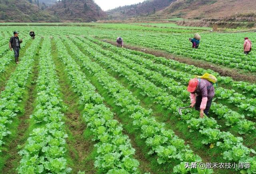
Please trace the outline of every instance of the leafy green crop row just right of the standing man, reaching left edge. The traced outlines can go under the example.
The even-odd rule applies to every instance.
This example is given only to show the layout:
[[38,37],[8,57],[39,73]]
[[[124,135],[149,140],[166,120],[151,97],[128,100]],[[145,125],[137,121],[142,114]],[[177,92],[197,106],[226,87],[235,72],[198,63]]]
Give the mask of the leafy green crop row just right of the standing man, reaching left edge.
[[11,133],[8,130],[8,125],[12,123],[12,118],[16,117],[17,113],[24,109],[18,104],[22,100],[26,82],[32,71],[33,58],[39,43],[40,39],[32,42],[24,56],[21,57],[20,64],[6,82],[4,91],[0,94],[0,146],[4,144],[4,137]]

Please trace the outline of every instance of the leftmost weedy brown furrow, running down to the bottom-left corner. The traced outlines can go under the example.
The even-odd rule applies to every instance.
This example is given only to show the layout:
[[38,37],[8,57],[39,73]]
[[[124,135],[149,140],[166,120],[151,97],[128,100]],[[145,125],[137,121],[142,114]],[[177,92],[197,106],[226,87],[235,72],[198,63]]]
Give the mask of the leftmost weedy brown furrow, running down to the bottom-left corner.
[[[24,144],[29,136],[30,132],[30,123],[29,117],[34,110],[34,102],[36,99],[36,79],[38,77],[38,53],[42,45],[43,39],[40,41],[37,52],[34,56],[34,63],[32,64],[32,73],[29,76],[28,83],[26,84],[22,102],[19,106],[24,108],[24,112],[20,113],[17,117],[14,118],[13,123],[11,124],[10,131],[12,134],[8,136],[7,142],[2,150],[0,156],[0,173],[4,174],[14,174],[16,168],[19,165],[21,156],[18,154],[20,150],[19,146]],[[24,51],[26,49],[23,49]],[[24,54],[24,53],[22,53]]]

